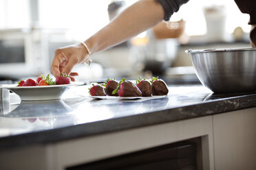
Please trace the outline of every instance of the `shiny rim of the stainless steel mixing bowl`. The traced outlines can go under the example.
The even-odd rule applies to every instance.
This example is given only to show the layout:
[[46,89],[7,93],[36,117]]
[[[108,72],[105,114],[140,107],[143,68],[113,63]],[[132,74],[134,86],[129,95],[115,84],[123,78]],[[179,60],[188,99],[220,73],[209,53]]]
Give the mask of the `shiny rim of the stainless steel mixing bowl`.
[[228,49],[187,49],[185,53],[209,53],[209,52],[223,52],[223,51],[256,51],[256,48],[228,48]]

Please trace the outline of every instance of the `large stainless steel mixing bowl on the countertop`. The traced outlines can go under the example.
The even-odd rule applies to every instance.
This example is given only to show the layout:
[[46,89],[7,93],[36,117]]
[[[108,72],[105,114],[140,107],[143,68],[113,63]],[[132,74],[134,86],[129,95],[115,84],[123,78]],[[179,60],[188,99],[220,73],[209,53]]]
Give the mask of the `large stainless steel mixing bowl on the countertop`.
[[186,50],[200,82],[214,93],[256,90],[256,48]]

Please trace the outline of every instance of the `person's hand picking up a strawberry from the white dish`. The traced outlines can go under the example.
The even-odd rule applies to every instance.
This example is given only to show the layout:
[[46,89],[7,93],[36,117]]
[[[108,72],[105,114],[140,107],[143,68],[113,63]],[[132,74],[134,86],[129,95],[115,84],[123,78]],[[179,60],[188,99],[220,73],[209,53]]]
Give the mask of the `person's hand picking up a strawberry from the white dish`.
[[56,49],[51,65],[52,75],[58,77],[61,76],[61,73],[67,73],[67,75],[70,75],[70,79],[74,81],[72,76],[76,76],[78,73],[72,73],[71,71],[76,64],[89,60],[87,54],[87,50],[81,44]]

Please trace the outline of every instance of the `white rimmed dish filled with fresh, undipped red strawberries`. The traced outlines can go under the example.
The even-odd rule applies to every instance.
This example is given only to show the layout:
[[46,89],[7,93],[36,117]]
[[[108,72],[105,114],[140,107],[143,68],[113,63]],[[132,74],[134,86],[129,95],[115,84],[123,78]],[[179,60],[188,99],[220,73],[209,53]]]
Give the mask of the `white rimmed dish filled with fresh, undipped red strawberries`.
[[61,99],[63,93],[71,86],[81,86],[83,82],[71,82],[70,77],[63,74],[54,81],[50,75],[41,75],[36,80],[21,80],[18,84],[6,84],[0,88],[7,88],[19,95],[22,101],[38,101]]

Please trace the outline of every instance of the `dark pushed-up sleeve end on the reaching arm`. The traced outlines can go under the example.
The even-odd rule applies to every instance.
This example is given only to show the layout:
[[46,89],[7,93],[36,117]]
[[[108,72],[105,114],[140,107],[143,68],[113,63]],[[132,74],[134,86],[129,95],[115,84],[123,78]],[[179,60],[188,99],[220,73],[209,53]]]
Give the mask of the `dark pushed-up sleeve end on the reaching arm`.
[[164,8],[164,20],[169,21],[174,12],[178,12],[180,6],[187,3],[189,0],[156,0]]

